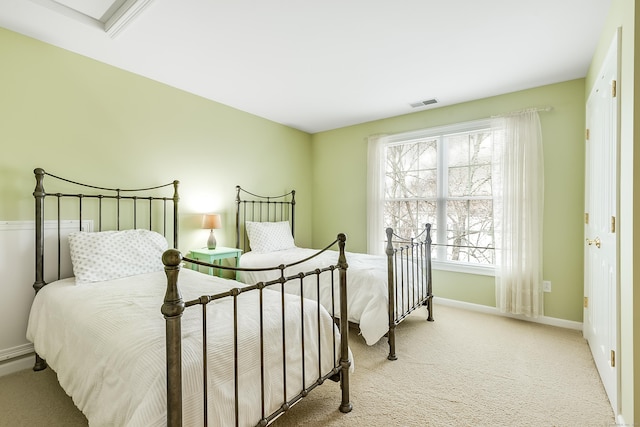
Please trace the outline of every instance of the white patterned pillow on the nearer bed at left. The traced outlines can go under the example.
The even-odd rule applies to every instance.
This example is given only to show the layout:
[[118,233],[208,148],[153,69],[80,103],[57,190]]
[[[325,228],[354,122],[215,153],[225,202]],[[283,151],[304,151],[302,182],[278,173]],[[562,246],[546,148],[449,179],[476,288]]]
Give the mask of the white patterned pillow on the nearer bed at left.
[[161,271],[162,254],[168,246],[163,235],[149,230],[80,231],[69,235],[77,284]]

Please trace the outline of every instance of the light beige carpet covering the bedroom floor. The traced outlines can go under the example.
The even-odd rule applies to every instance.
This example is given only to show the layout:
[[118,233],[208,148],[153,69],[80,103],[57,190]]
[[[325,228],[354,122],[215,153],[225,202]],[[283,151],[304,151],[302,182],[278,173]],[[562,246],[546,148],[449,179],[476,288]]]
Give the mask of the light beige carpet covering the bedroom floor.
[[[351,330],[353,411],[331,381],[273,424],[311,426],[614,426],[588,344],[579,331],[436,305],[368,347]],[[0,426],[86,426],[55,374],[0,378]]]

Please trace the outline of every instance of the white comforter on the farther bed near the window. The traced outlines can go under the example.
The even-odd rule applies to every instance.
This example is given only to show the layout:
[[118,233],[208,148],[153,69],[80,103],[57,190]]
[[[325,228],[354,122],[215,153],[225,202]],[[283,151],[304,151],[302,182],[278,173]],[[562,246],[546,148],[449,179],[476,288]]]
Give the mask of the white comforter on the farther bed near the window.
[[[307,258],[318,252],[315,249],[292,248],[269,253],[247,252],[240,257],[240,266],[244,268],[270,267],[288,264]],[[349,321],[360,325],[360,333],[368,345],[373,345],[389,331],[389,289],[387,279],[387,258],[361,253],[347,252],[347,303]],[[285,275],[308,271],[318,266],[338,262],[337,251],[326,251],[319,257],[287,269]],[[336,304],[339,301],[337,274],[334,292]],[[270,281],[278,277],[278,272],[242,272],[240,280],[246,283]],[[328,278],[325,275],[325,278]],[[299,294],[299,288],[287,285],[289,293]],[[305,285],[306,286],[306,285]],[[305,290],[305,297],[316,298],[315,294]],[[322,282],[320,302],[330,310],[331,284],[328,279]],[[335,306],[335,314],[339,314],[339,305]]]

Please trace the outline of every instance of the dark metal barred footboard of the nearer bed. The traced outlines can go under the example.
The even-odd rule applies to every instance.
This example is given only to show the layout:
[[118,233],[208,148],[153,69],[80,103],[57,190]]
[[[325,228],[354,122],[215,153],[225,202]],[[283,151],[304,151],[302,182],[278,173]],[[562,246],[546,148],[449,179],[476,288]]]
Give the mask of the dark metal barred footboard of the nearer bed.
[[[166,319],[166,351],[167,351],[167,425],[168,426],[181,426],[182,425],[182,349],[181,349],[181,342],[182,342],[182,338],[181,338],[181,318],[183,316],[183,313],[185,312],[185,310],[190,309],[192,307],[197,307],[200,306],[202,308],[202,316],[203,316],[203,354],[202,354],[202,358],[203,358],[203,383],[207,384],[207,365],[208,365],[208,361],[207,361],[207,343],[206,343],[206,306],[207,304],[211,303],[212,301],[217,301],[217,300],[222,300],[222,299],[232,299],[233,300],[233,306],[234,306],[234,351],[237,352],[237,348],[238,348],[238,343],[237,343],[237,339],[238,339],[238,332],[237,332],[237,321],[238,321],[238,313],[237,313],[237,298],[239,295],[246,293],[246,292],[259,292],[260,294],[260,316],[261,316],[261,320],[260,320],[260,357],[261,357],[261,361],[263,360],[262,358],[264,357],[263,354],[263,324],[262,324],[262,292],[266,287],[272,286],[272,285],[278,285],[280,284],[281,286],[284,286],[285,283],[287,282],[292,282],[292,281],[299,281],[300,283],[300,304],[304,303],[304,298],[303,298],[303,291],[302,291],[302,287],[303,286],[307,286],[307,284],[303,284],[303,279],[306,277],[314,277],[314,276],[319,276],[321,274],[330,274],[333,277],[335,277],[334,272],[335,270],[338,270],[338,281],[339,281],[339,297],[340,297],[340,314],[339,316],[336,316],[336,313],[330,313],[334,318],[339,318],[339,329],[340,329],[340,343],[339,343],[339,348],[338,346],[336,346],[335,343],[335,339],[334,339],[334,348],[333,348],[333,369],[331,369],[328,372],[322,372],[322,371],[318,371],[318,376],[315,379],[315,381],[312,383],[311,386],[307,386],[306,385],[306,381],[304,380],[304,372],[305,372],[305,368],[304,368],[304,362],[302,365],[302,378],[303,378],[303,384],[302,384],[302,391],[297,393],[293,398],[288,399],[287,398],[287,381],[286,381],[286,375],[287,375],[287,371],[286,371],[286,367],[283,367],[283,377],[285,378],[285,380],[283,381],[284,384],[284,390],[282,395],[283,400],[281,401],[281,404],[279,406],[279,408],[272,412],[272,413],[268,413],[268,411],[265,408],[265,397],[264,397],[264,390],[265,390],[265,386],[264,386],[264,371],[262,372],[261,375],[261,388],[262,388],[262,410],[261,410],[261,418],[260,420],[257,420],[256,426],[266,426],[268,424],[270,424],[273,420],[275,420],[278,416],[282,415],[283,413],[285,413],[287,410],[289,410],[296,402],[298,402],[300,399],[302,399],[303,397],[305,397],[307,395],[307,393],[309,393],[309,391],[311,391],[312,389],[314,389],[315,387],[317,387],[318,385],[322,384],[325,380],[327,379],[334,379],[334,380],[339,380],[341,382],[341,390],[342,390],[342,396],[341,396],[341,403],[340,403],[340,411],[341,412],[349,412],[352,409],[352,404],[349,400],[349,368],[351,366],[351,360],[349,359],[349,327],[348,327],[348,312],[347,312],[347,287],[346,287],[346,281],[347,281],[347,260],[346,260],[346,256],[345,256],[345,242],[346,242],[346,237],[344,234],[339,234],[338,238],[332,242],[330,245],[328,245],[325,249],[319,251],[316,255],[314,255],[313,257],[319,255],[320,253],[328,250],[329,248],[333,247],[336,243],[338,244],[339,247],[339,258],[338,258],[338,262],[335,265],[328,265],[325,268],[320,268],[320,269],[315,269],[313,271],[309,271],[309,272],[305,272],[305,273],[299,273],[299,274],[295,274],[293,276],[288,276],[285,277],[284,271],[286,268],[291,267],[293,265],[296,264],[300,264],[303,263],[313,257],[309,257],[307,259],[304,260],[300,260],[296,263],[293,264],[289,264],[289,265],[281,265],[278,267],[273,267],[273,268],[262,268],[262,269],[247,269],[247,268],[237,268],[237,267],[230,267],[230,266],[215,266],[216,268],[223,268],[225,270],[232,270],[232,271],[256,271],[256,270],[260,270],[260,271],[267,271],[267,270],[279,270],[280,272],[280,277],[276,280],[270,281],[270,282],[260,282],[260,283],[256,283],[254,285],[250,285],[250,286],[246,286],[246,287],[241,287],[241,288],[232,288],[227,292],[224,293],[220,293],[220,294],[216,294],[216,295],[204,295],[201,296],[198,299],[195,300],[190,300],[190,301],[183,301],[182,296],[180,294],[180,290],[178,287],[178,276],[179,276],[179,271],[180,271],[180,267],[183,264],[183,262],[189,262],[189,263],[193,263],[193,264],[197,264],[197,265],[202,265],[205,267],[212,267],[212,264],[208,264],[202,261],[198,261],[198,260],[193,260],[193,259],[189,259],[189,258],[183,258],[182,255],[180,254],[179,251],[177,250],[168,250],[165,252],[165,254],[163,255],[163,262],[165,264],[165,272],[167,275],[167,290],[166,290],[166,295],[165,295],[165,300],[164,300],[164,304],[162,305],[162,309],[161,312],[164,315],[165,319]],[[319,280],[317,281],[319,283]],[[319,286],[319,285],[318,285]],[[285,346],[285,340],[284,340],[284,329],[286,327],[286,324],[284,322],[284,307],[285,307],[285,298],[289,298],[285,297],[285,292],[280,292],[281,295],[281,301],[282,301],[282,327],[283,327],[283,341],[282,341],[282,354],[283,354],[283,360],[286,360],[284,357],[284,354],[286,353],[287,349]],[[318,301],[315,301],[314,304],[316,304],[317,306],[317,313],[318,313],[318,325],[319,325],[319,317],[320,317],[320,310],[321,310],[321,305]],[[304,318],[303,318],[304,319]],[[302,320],[304,322],[304,320]],[[304,331],[304,328],[303,328]],[[304,335],[301,337],[301,342],[302,342],[302,352],[303,352],[303,357],[302,360],[304,361],[304,343],[305,343],[305,338]],[[320,327],[318,326],[318,345],[320,345]],[[339,352],[339,358],[337,358],[337,354],[336,352]],[[237,356],[237,354],[236,354]],[[320,356],[319,356],[320,357]],[[335,363],[335,361],[338,360],[338,363]],[[321,363],[320,360],[318,362],[318,366],[320,367]],[[264,369],[264,363],[261,363],[262,369]],[[234,370],[235,370],[235,377],[234,377],[234,384],[235,384],[235,420],[236,423],[235,425],[238,425],[238,420],[240,418],[239,416],[239,390],[238,390],[238,362],[237,362],[237,357],[234,361]],[[207,414],[207,387],[204,387],[203,390],[203,410],[204,410],[204,421],[205,421],[205,425],[207,425],[207,418],[208,418],[208,414]]]

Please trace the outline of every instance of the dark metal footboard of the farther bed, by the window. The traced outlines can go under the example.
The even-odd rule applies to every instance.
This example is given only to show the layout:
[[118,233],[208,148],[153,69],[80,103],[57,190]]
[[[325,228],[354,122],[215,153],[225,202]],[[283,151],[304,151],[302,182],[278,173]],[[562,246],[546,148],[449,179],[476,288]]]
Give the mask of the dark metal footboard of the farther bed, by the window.
[[402,238],[386,229],[387,276],[389,289],[389,355],[397,360],[396,326],[414,310],[426,306],[427,320],[433,322],[431,279],[431,224],[417,237]]

